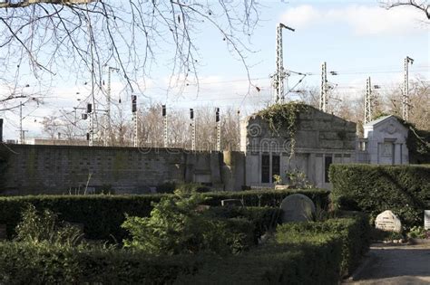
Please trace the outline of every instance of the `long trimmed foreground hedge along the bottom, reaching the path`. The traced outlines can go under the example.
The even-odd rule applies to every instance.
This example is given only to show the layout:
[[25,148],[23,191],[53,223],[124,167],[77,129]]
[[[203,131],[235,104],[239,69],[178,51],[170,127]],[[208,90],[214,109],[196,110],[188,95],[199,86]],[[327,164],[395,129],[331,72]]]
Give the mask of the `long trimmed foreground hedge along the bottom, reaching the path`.
[[283,225],[279,233],[288,238],[237,256],[149,257],[126,250],[0,242],[0,283],[338,284],[350,261],[359,258],[358,249],[365,249],[366,242],[353,238],[364,229],[363,220]]

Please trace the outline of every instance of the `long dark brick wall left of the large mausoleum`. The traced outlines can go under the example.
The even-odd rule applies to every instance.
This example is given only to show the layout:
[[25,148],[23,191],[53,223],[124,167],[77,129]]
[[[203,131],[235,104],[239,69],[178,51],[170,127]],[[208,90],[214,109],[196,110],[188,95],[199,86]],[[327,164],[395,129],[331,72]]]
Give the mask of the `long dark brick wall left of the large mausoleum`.
[[[8,145],[3,150],[8,154],[1,176],[5,195],[82,193],[87,184],[116,193],[145,193],[171,180],[225,188],[224,156],[218,152],[38,145]],[[243,177],[238,179],[243,185]],[[235,186],[230,183],[230,190],[239,190]]]

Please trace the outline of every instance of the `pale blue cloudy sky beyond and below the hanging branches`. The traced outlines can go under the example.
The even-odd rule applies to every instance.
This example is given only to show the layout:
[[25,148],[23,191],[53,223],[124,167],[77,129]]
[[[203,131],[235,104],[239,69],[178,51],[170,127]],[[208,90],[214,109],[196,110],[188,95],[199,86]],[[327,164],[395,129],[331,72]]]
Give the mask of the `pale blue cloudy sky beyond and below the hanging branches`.
[[[327,62],[327,71],[337,71],[337,76],[328,75],[328,81],[337,86],[339,96],[347,99],[363,96],[368,76],[372,84],[381,86],[382,90],[403,82],[406,56],[415,60],[410,67],[410,77],[420,75],[430,80],[430,24],[425,22],[423,12],[406,6],[386,10],[378,1],[370,0],[259,3],[259,26],[249,39],[243,39],[252,51],[244,53],[249,78],[259,91],[249,85],[247,69],[237,55],[226,49],[220,33],[203,25],[195,38],[200,52],[199,93],[194,86],[180,94],[178,90],[167,92],[171,65],[161,57],[151,70],[151,78],[145,80],[146,87],[139,103],[147,107],[161,102],[167,104],[168,109],[183,109],[184,112],[202,105],[220,107],[221,113],[224,108],[240,109],[242,114],[263,108],[271,99],[269,76],[275,72],[275,36],[279,22],[296,30],[283,32],[284,67],[309,73],[297,90],[320,85],[322,62]],[[289,88],[300,79],[301,76],[290,76]],[[24,106],[23,125],[29,130],[26,136],[42,136],[40,121],[43,117],[59,115],[60,110],[72,111],[73,105],[78,103],[76,92],[84,89],[73,82],[56,81],[51,90],[55,94],[52,100],[48,95],[45,103],[38,107]],[[113,99],[122,96],[123,104],[130,104],[129,96],[121,95],[120,90],[122,83],[113,74]],[[294,93],[287,94],[287,100],[295,99]],[[6,118],[5,138],[16,139],[17,114],[0,112],[2,116]]]

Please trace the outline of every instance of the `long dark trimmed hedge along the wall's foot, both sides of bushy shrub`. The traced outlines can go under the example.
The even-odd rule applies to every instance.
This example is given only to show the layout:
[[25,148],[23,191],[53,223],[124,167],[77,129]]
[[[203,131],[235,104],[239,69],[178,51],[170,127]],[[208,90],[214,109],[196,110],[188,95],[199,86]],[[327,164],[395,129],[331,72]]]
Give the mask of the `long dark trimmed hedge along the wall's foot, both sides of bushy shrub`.
[[[302,193],[316,203],[327,204],[327,190],[283,190],[241,191],[206,193],[207,204],[220,205],[222,199],[243,199],[246,206],[275,206],[287,195]],[[0,223],[7,226],[9,236],[14,233],[26,204],[37,209],[50,209],[59,214],[61,220],[83,223],[84,233],[89,239],[116,240],[121,242],[126,232],[120,227],[124,214],[149,216],[151,202],[159,202],[167,195],[28,195],[0,197]],[[259,225],[257,225],[258,228]]]

